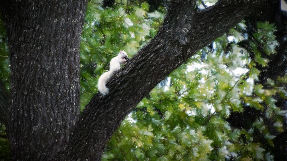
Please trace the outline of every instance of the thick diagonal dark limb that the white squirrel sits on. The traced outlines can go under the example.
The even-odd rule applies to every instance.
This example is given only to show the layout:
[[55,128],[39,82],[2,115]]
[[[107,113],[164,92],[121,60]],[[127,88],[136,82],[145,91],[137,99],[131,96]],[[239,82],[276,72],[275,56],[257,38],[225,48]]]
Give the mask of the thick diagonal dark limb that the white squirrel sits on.
[[221,0],[194,13],[195,1],[171,1],[170,22],[164,21],[169,25],[161,28],[155,38],[111,78],[107,84],[110,93],[106,97],[97,93],[91,99],[75,125],[63,158],[100,160],[113,132],[144,96],[200,48],[246,16],[264,9],[267,2],[271,0]]

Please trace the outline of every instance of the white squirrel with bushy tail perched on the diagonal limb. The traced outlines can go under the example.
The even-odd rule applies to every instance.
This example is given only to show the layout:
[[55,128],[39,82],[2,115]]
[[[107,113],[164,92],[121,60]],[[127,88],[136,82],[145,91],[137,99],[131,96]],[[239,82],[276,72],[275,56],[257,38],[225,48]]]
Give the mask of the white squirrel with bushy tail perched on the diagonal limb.
[[128,61],[127,53],[125,50],[120,50],[119,54],[110,60],[110,70],[102,74],[98,80],[98,90],[103,96],[108,94],[109,89],[106,87],[106,83],[110,80],[111,76],[121,68],[121,64],[125,64]]

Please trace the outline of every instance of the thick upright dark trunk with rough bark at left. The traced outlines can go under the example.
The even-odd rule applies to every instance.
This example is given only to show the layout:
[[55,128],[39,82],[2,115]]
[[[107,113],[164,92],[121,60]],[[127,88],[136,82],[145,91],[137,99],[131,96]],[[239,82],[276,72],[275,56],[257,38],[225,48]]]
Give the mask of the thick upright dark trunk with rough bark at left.
[[79,116],[86,0],[1,1],[11,65],[11,160],[56,160]]

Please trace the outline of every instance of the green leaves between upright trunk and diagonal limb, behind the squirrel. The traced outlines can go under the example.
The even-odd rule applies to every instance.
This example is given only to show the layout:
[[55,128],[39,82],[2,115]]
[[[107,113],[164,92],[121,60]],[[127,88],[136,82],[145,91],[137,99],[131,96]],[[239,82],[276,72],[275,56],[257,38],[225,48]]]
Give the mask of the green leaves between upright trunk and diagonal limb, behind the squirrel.
[[[148,13],[148,3],[116,1],[103,9],[98,1],[88,3],[81,38],[81,110],[97,91],[99,76],[108,70],[110,59],[119,50],[129,57],[155,36],[163,22],[165,9]],[[127,14],[129,12],[130,14]]]

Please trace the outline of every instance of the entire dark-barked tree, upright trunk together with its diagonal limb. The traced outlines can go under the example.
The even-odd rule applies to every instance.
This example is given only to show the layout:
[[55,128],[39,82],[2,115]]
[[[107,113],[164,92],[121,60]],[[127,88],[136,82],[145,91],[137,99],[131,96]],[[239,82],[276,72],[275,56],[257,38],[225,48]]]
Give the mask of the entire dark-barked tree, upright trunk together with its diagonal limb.
[[195,0],[171,0],[164,27],[114,74],[109,94],[97,93],[79,117],[86,1],[0,1],[10,46],[11,159],[100,160],[121,121],[161,80],[236,23],[269,12],[266,6],[273,4],[219,0],[195,12]]

